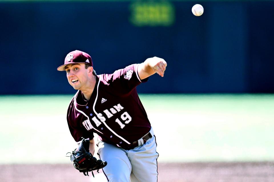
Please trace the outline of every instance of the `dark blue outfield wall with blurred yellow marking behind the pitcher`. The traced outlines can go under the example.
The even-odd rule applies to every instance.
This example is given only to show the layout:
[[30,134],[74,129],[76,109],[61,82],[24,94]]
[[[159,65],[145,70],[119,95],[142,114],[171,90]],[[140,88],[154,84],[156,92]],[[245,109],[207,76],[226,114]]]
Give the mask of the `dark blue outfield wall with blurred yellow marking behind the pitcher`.
[[164,58],[164,78],[140,93],[274,93],[273,10],[273,1],[1,2],[0,94],[75,93],[56,69],[76,49],[97,74]]

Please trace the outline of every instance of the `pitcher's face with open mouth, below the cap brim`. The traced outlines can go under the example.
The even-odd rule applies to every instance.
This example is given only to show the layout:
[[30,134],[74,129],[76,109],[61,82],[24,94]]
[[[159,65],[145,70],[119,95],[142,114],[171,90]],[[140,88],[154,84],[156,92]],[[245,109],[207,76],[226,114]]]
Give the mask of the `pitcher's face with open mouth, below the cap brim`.
[[75,90],[82,90],[87,86],[88,69],[85,68],[85,64],[67,65],[66,72],[68,82]]

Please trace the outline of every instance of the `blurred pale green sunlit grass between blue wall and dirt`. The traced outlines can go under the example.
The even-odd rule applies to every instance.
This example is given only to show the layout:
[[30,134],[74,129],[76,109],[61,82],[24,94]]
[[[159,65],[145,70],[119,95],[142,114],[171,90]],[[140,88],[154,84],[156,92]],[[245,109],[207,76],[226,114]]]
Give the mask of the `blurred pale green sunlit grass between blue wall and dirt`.
[[[0,96],[0,164],[69,163],[73,95]],[[140,94],[159,162],[273,161],[274,94]]]

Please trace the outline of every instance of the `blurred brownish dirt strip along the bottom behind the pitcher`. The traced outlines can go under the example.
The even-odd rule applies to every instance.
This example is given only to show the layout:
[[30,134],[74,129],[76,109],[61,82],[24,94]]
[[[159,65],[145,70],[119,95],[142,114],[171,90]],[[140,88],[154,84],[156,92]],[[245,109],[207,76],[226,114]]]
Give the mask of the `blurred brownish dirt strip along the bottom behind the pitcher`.
[[[91,173],[89,177],[84,176],[72,164],[0,167],[0,181],[3,182],[90,182],[92,178]],[[158,182],[273,182],[274,162],[159,163],[158,172]]]

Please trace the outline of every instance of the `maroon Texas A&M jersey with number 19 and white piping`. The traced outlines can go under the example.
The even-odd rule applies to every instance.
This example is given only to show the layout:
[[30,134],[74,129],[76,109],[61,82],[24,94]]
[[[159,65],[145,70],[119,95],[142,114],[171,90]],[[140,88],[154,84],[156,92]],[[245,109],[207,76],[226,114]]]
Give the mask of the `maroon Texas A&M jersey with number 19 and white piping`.
[[82,92],[72,98],[67,121],[76,142],[81,137],[92,139],[97,133],[104,142],[127,146],[150,131],[150,122],[138,97],[140,80],[138,64],[127,66],[113,74],[96,76],[90,100]]

